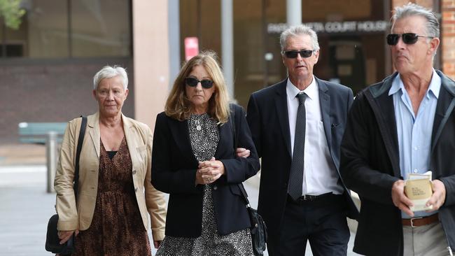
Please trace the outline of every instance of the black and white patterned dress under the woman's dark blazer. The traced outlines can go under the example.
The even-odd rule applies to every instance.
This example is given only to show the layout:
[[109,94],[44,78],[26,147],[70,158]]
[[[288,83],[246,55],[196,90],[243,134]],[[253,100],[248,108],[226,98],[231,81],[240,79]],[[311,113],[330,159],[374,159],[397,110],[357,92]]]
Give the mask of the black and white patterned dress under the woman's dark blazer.
[[[215,155],[220,132],[209,115],[191,115],[188,120],[191,148],[198,161]],[[166,236],[156,256],[253,256],[251,234],[243,229],[225,236],[218,234],[212,185],[204,185],[202,234],[197,238]]]

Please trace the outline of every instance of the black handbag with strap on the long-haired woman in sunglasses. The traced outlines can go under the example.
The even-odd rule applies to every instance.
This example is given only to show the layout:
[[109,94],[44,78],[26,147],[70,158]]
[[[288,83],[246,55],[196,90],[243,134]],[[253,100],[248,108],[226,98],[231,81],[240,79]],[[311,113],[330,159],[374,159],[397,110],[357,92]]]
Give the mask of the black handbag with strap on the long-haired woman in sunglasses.
[[[232,127],[232,134],[234,136],[234,154],[237,150],[237,132],[235,129],[235,108],[234,106],[230,106],[231,108],[231,116],[230,116],[230,123]],[[237,156],[235,156],[237,157]],[[253,253],[255,256],[262,256],[264,255],[265,251],[265,244],[267,243],[267,226],[265,225],[264,220],[259,215],[258,211],[250,206],[250,201],[248,200],[248,194],[246,194],[246,190],[242,183],[239,183],[239,189],[241,194],[244,196],[246,210],[248,211],[248,215],[251,220],[251,242],[253,244]]]

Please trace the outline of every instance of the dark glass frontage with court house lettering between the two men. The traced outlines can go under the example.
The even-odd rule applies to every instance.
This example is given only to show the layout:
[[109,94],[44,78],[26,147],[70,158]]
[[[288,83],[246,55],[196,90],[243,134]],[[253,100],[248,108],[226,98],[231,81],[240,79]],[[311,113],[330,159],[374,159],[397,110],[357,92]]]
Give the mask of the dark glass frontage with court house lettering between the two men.
[[354,94],[385,76],[383,1],[304,0],[302,20],[321,24],[315,76],[349,86]]

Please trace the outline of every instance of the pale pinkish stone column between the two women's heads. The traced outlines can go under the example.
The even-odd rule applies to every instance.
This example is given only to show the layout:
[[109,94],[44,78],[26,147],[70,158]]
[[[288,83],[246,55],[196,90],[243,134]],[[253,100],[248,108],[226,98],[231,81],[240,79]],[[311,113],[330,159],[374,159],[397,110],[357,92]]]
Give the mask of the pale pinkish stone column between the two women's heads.
[[[153,131],[169,92],[167,0],[133,0],[134,118]],[[132,74],[130,74],[131,76]]]

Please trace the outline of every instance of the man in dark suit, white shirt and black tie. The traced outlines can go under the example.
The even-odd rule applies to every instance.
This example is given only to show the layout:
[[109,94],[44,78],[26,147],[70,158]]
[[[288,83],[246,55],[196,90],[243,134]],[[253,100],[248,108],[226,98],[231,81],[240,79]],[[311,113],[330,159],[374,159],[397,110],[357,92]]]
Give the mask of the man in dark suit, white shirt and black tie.
[[339,178],[339,144],[353,101],[351,89],[313,76],[316,33],[283,31],[289,77],[251,94],[247,120],[262,157],[258,211],[267,224],[269,255],[346,255],[346,215],[358,211]]

